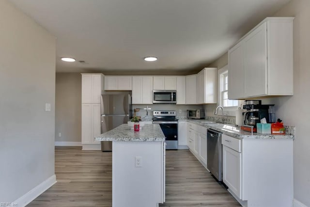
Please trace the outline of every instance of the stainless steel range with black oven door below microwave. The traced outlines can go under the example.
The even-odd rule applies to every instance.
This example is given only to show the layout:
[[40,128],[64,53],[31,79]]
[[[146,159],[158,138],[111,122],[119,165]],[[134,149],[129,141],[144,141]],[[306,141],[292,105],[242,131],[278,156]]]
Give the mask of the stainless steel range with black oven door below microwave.
[[153,111],[153,124],[159,124],[166,137],[166,149],[178,149],[178,120],[175,111]]

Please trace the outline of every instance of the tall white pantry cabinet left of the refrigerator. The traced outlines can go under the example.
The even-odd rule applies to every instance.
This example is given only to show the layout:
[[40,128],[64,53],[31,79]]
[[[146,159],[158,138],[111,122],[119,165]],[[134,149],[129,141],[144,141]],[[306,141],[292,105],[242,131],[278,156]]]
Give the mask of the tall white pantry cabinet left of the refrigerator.
[[100,73],[82,73],[82,133],[83,150],[101,149],[94,137],[100,135],[101,92],[104,76]]

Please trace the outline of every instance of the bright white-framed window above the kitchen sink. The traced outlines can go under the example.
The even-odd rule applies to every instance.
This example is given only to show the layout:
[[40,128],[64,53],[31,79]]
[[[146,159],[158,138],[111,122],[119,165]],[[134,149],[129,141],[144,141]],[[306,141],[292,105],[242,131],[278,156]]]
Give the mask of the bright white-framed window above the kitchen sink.
[[220,68],[218,74],[218,105],[224,108],[229,116],[235,116],[235,110],[241,105],[240,100],[228,99],[228,65]]

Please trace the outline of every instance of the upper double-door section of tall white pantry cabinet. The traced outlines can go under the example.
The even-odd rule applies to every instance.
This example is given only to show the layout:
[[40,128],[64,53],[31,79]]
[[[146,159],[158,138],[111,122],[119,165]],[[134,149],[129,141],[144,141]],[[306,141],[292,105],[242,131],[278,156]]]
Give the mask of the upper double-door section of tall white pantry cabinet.
[[103,74],[82,73],[82,103],[100,103]]

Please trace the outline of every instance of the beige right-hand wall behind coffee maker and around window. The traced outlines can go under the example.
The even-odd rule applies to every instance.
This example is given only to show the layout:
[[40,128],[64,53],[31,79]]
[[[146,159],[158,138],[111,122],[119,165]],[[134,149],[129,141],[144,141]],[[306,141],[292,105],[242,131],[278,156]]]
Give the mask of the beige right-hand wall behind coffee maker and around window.
[[[274,16],[294,19],[294,96],[263,98],[263,104],[275,104],[276,116],[285,125],[296,127],[294,140],[294,199],[310,207],[310,0],[291,0]],[[227,53],[210,66],[228,63]],[[210,113],[216,105],[205,105]],[[276,150],[276,149],[275,149]],[[279,172],[280,173],[280,172]]]

